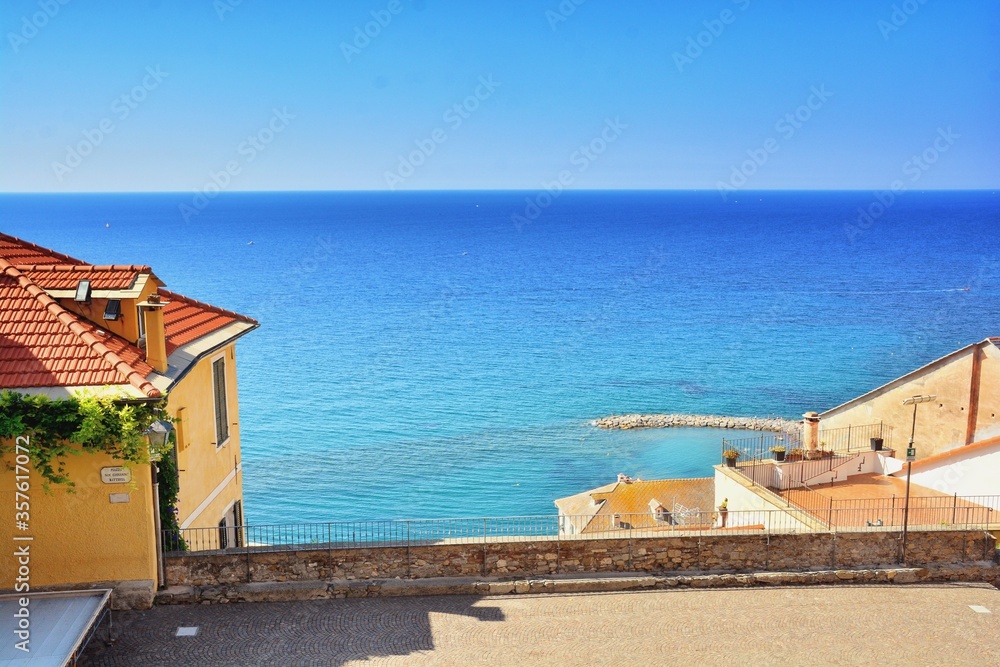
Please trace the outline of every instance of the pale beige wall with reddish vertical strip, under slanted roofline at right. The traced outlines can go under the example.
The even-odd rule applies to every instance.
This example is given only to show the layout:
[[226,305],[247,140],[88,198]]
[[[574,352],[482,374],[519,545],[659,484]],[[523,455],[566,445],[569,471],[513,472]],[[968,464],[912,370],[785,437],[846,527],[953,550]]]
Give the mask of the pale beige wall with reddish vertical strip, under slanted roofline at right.
[[891,383],[864,400],[848,403],[822,414],[821,429],[884,422],[893,427],[896,456],[906,454],[913,406],[903,399],[934,394],[937,400],[917,406],[914,443],[917,458],[948,451],[966,444],[972,386],[973,353],[981,356],[981,382],[975,440],[996,435],[1000,412],[1000,355],[992,345],[972,348],[951,359],[916,373],[905,381]]

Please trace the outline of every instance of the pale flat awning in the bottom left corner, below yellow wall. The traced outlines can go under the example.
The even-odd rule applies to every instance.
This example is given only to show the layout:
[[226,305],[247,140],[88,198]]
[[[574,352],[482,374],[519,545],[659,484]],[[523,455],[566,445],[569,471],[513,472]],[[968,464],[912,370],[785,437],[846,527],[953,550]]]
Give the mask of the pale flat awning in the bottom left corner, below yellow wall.
[[[28,598],[28,652],[17,648],[21,598]],[[72,662],[104,617],[110,590],[0,595],[0,665],[63,667]],[[23,616],[22,616],[23,618]]]

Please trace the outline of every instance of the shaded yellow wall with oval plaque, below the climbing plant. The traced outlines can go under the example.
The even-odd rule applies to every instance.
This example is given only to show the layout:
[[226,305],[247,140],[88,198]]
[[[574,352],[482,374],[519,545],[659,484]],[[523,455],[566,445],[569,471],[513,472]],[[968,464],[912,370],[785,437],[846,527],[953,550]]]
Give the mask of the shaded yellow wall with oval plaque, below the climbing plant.
[[[6,444],[6,443],[5,443]],[[14,535],[30,535],[32,587],[97,581],[156,579],[156,543],[153,532],[153,499],[149,466],[132,469],[132,484],[105,484],[100,471],[120,466],[110,456],[86,453],[68,459],[66,470],[76,482],[76,492],[52,486],[42,489],[41,477],[30,474],[29,530],[15,527],[14,455],[0,461],[0,544],[12,553]],[[129,502],[110,502],[110,494],[127,493]],[[0,558],[0,589],[14,587],[17,563]]]

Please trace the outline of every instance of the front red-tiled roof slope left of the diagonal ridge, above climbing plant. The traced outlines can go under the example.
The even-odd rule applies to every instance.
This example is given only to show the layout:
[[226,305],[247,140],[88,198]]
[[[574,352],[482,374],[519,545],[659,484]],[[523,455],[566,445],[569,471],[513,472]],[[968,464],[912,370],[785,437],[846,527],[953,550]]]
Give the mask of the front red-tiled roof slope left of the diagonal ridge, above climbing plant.
[[98,331],[0,259],[0,387],[131,384],[159,397],[142,350]]

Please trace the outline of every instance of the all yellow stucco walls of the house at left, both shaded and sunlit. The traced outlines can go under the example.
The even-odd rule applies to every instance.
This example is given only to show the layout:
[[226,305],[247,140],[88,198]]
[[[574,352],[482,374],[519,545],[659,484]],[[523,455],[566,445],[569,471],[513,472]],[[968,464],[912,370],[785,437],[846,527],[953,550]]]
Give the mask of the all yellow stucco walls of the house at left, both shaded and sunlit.
[[[215,444],[215,404],[212,362],[224,356],[230,437]],[[180,469],[179,522],[208,528],[202,535],[186,535],[192,546],[214,548],[219,520],[242,499],[239,404],[235,345],[201,360],[175,386],[168,409],[180,414],[178,468]],[[0,459],[0,543],[11,548],[15,532],[14,454]],[[104,484],[102,467],[120,466],[103,453],[85,453],[68,459],[67,473],[76,492],[54,486],[45,494],[42,480],[30,478],[31,585],[54,586],[97,581],[155,581],[156,535],[149,466],[135,466],[131,484]],[[128,503],[110,502],[110,494],[128,493]],[[209,502],[206,499],[214,498]],[[195,516],[195,513],[197,515]],[[232,538],[230,538],[232,539]],[[200,541],[199,544],[194,544]],[[15,559],[0,559],[0,589],[13,588]]]

